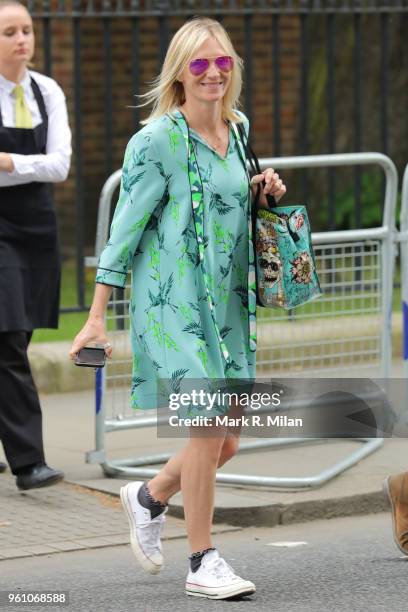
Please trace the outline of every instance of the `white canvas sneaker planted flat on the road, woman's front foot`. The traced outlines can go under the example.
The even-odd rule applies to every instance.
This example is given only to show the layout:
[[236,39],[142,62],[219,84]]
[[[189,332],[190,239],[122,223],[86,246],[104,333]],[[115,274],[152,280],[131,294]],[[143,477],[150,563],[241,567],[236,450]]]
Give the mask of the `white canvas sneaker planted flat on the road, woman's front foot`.
[[253,582],[234,574],[232,567],[220,557],[217,550],[206,553],[198,570],[192,572],[190,569],[186,581],[186,595],[208,599],[251,595],[255,590]]

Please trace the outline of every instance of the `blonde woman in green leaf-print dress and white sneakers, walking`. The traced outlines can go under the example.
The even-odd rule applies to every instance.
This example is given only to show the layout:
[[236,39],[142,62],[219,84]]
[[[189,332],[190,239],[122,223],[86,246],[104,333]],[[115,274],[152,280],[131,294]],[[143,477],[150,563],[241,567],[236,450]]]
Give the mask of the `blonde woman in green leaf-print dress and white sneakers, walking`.
[[[70,356],[90,342],[107,342],[104,313],[111,288],[124,286],[131,267],[131,402],[136,409],[154,407],[158,378],[179,388],[187,379],[255,376],[250,188],[234,130],[241,123],[248,132],[246,117],[235,110],[241,70],[218,22],[196,18],[185,23],[146,96],[153,111],[125,153],[94,301]],[[252,179],[262,181],[263,194],[279,199],[286,191],[273,169]],[[188,595],[227,599],[255,591],[211,539],[216,470],[236,453],[239,434],[239,428],[218,428],[210,437],[195,428],[186,447],[157,476],[121,490],[132,550],[145,570],[157,573],[163,564],[166,504],[181,488],[192,553]]]

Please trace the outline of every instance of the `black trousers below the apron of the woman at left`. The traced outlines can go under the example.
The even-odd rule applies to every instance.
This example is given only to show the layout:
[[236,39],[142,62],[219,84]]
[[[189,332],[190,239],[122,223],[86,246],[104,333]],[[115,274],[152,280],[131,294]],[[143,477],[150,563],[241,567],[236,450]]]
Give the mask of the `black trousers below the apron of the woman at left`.
[[41,406],[27,357],[31,336],[0,332],[0,439],[13,473],[44,462]]

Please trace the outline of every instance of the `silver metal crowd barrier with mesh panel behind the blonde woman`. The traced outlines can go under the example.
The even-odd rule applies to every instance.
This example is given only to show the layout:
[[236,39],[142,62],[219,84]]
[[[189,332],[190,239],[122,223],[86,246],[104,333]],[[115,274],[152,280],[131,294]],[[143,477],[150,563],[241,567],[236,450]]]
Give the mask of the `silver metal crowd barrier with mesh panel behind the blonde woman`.
[[[385,175],[382,225],[371,229],[313,233],[319,276],[324,295],[288,317],[271,311],[259,313],[257,376],[284,371],[296,376],[350,377],[350,367],[358,375],[369,366],[371,377],[388,378],[391,367],[391,314],[395,258],[395,205],[398,177],[393,162],[380,153],[352,153],[304,157],[264,158],[261,167],[276,169],[328,168],[334,166],[377,165]],[[121,171],[106,181],[100,197],[95,256],[86,258],[96,266],[109,234],[113,195]],[[356,275],[355,272],[358,271]],[[100,463],[105,474],[151,478],[157,469],[146,465],[164,463],[171,456],[161,453],[144,457],[111,460],[107,458],[108,432],[157,425],[153,411],[134,414],[130,408],[131,352],[129,341],[130,286],[114,290],[107,315],[110,340],[117,355],[96,374],[96,448],[87,461]],[[347,338],[342,334],[349,329]],[[279,334],[278,334],[279,331]],[[351,333],[350,333],[351,332]],[[315,439],[267,439],[241,444],[239,452],[279,448],[316,442]],[[348,469],[383,444],[382,439],[361,438],[363,446],[317,475],[262,477],[217,474],[217,482],[252,486],[316,487]]]

